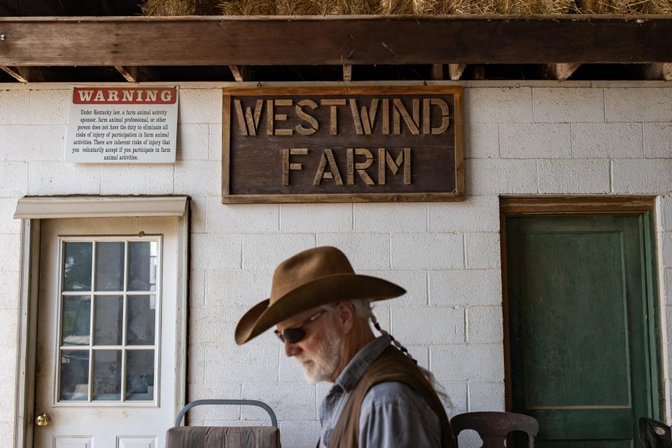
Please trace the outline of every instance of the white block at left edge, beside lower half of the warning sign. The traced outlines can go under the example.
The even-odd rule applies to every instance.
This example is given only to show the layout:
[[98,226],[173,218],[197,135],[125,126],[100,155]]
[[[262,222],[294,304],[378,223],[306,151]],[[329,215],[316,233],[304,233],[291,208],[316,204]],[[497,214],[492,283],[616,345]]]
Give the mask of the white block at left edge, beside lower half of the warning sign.
[[64,158],[64,125],[0,126],[0,160],[53,160]]

